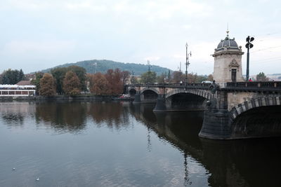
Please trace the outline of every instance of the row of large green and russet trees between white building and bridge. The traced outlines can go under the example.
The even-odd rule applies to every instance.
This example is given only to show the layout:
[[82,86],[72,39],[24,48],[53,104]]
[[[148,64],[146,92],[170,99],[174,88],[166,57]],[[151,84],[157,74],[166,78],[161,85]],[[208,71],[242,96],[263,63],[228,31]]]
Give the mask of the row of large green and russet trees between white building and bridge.
[[39,95],[79,95],[88,90],[93,95],[119,95],[130,76],[129,71],[108,69],[106,74],[86,74],[83,67],[70,66],[36,73],[32,83]]

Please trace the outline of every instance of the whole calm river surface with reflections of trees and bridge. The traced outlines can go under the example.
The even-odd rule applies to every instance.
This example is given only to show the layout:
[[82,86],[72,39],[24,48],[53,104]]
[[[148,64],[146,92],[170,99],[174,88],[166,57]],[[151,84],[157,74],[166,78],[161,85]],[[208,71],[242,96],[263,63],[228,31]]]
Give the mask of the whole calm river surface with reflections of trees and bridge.
[[200,139],[202,112],[153,106],[0,103],[0,186],[281,186],[279,138]]

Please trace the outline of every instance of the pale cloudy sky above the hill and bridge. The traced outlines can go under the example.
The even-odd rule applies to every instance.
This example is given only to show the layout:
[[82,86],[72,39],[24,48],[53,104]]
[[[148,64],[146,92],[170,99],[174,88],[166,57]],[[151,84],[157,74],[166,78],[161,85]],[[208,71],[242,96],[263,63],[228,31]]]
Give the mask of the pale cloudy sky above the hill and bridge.
[[94,59],[172,70],[181,62],[185,71],[188,42],[188,72],[212,74],[228,27],[246,53],[246,37],[255,38],[250,75],[281,74],[280,19],[281,1],[1,0],[0,73]]

